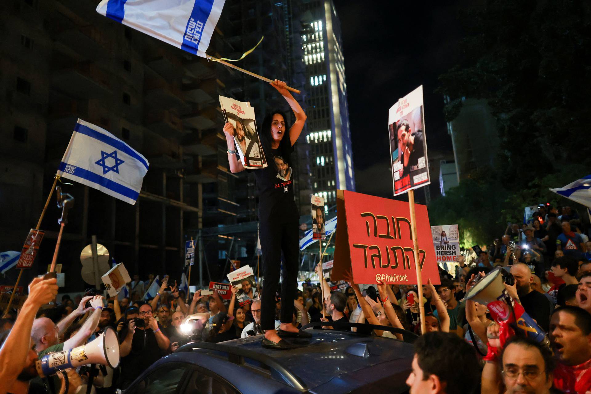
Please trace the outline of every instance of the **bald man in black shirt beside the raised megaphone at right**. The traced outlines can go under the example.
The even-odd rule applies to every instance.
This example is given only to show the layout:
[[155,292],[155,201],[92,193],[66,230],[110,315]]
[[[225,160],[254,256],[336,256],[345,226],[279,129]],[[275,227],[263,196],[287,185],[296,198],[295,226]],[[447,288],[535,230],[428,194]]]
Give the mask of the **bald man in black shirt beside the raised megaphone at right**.
[[537,291],[533,291],[531,284],[534,278],[530,267],[524,263],[515,263],[511,266],[511,274],[515,276],[515,285],[505,284],[505,288],[511,297],[519,300],[525,312],[534,319],[540,327],[548,332],[550,327],[550,313],[554,310],[554,305],[548,298]]

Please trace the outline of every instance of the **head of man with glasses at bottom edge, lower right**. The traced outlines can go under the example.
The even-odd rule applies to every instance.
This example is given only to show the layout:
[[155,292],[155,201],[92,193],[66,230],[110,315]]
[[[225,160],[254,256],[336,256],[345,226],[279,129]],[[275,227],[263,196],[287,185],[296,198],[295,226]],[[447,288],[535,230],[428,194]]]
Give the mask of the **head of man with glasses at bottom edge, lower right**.
[[535,340],[511,338],[501,353],[506,393],[548,394],[553,381],[552,352]]

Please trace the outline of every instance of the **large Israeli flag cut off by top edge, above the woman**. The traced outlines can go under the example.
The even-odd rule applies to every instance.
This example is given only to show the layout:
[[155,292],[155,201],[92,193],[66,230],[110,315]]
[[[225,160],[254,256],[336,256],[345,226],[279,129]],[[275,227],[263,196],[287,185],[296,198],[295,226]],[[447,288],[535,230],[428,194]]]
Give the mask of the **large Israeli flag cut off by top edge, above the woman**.
[[96,12],[205,57],[225,0],[102,0]]

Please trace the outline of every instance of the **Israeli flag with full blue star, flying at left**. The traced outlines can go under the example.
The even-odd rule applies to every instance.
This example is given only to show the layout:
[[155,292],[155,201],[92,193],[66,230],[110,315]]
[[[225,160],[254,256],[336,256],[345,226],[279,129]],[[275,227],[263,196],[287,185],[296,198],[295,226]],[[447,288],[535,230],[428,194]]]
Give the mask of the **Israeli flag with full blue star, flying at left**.
[[78,119],[57,175],[135,204],[149,166],[121,139]]

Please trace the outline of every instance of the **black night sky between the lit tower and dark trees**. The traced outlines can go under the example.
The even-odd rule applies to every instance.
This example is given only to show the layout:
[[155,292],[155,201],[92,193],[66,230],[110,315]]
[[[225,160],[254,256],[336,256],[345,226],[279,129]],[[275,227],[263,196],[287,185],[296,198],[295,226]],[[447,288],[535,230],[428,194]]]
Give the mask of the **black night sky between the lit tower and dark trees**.
[[[448,2],[336,0],[353,141],[356,191],[392,197],[388,109],[423,84],[429,151],[452,152],[437,77],[457,60],[457,8]],[[431,178],[431,194],[439,181]]]

